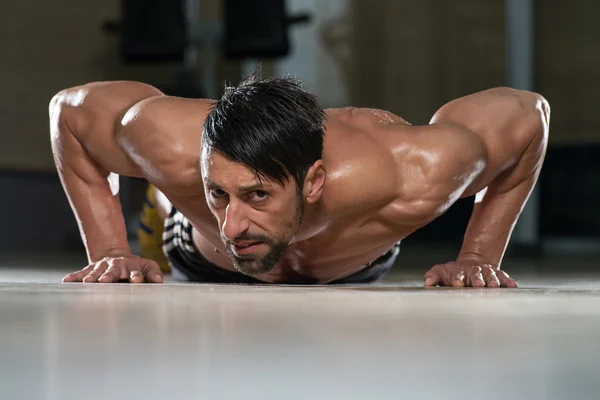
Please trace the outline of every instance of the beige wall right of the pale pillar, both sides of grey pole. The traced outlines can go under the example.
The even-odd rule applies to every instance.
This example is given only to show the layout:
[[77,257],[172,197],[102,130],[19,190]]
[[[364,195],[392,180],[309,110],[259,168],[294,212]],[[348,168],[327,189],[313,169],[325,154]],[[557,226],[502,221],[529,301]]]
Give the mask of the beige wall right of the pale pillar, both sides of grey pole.
[[[444,102],[505,85],[497,0],[351,0],[352,102],[426,123]],[[552,107],[550,144],[600,142],[600,3],[535,1],[535,82]]]

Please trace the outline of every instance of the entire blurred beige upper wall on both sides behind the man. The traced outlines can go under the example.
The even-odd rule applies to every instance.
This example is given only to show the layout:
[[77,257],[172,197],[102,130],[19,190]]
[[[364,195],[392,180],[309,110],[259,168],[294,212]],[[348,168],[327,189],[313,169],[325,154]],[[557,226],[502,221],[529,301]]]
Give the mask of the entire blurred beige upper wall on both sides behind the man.
[[[351,104],[426,123],[444,102],[504,84],[502,1],[348,3],[347,18],[325,21],[320,40],[327,41],[326,31],[335,32],[336,24],[345,32],[329,40],[337,54],[331,43],[326,47],[337,57]],[[120,64],[118,37],[100,29],[104,20],[118,17],[119,0],[7,4],[0,13],[0,168],[54,170],[47,106],[60,89],[94,80],[173,82],[173,65]],[[204,15],[218,16],[219,0],[202,4]],[[536,89],[553,108],[552,143],[597,141],[600,5],[539,0],[536,7]],[[220,82],[240,76],[237,63],[219,63]]]

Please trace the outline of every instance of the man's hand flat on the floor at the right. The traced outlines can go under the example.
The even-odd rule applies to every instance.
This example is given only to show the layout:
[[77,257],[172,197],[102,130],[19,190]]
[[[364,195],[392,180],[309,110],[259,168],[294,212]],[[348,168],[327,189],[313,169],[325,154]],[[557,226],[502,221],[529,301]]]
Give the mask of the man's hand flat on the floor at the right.
[[425,286],[518,287],[506,272],[475,260],[438,264],[425,273],[424,279]]

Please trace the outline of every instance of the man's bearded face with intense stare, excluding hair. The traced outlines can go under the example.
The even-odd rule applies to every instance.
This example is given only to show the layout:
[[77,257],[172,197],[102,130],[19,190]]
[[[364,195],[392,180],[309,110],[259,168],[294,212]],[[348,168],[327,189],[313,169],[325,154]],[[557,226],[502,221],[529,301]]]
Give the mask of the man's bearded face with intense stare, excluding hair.
[[244,164],[203,146],[206,202],[217,218],[221,240],[233,265],[246,275],[271,271],[300,228],[303,201],[293,179],[259,181]]

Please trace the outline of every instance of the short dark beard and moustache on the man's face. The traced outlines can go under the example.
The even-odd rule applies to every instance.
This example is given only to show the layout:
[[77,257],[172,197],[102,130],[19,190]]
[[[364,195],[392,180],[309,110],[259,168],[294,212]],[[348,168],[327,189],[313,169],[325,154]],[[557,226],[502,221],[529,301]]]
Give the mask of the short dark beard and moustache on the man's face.
[[272,271],[290,245],[292,238],[298,232],[298,229],[300,229],[303,217],[304,204],[302,203],[302,197],[298,196],[296,199],[296,210],[292,221],[283,232],[274,236],[248,233],[235,238],[236,242],[263,242],[269,248],[269,251],[263,256],[239,256],[233,252],[231,242],[222,238],[227,254],[233,261],[233,267],[236,271],[249,276],[265,274]]

